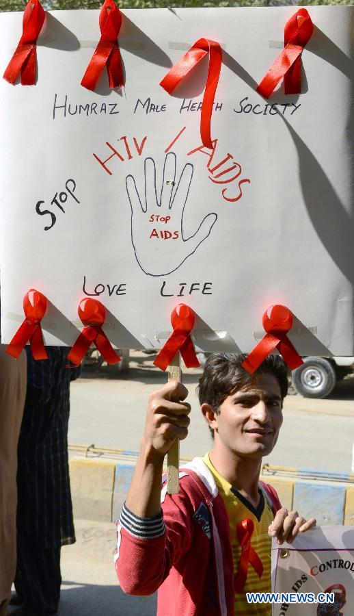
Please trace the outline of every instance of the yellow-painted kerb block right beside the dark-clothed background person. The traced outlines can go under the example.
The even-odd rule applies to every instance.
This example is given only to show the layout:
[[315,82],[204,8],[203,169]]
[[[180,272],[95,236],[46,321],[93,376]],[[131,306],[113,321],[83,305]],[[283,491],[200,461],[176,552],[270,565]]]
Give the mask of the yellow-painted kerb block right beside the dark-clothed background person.
[[74,517],[111,522],[115,465],[113,460],[71,459]]

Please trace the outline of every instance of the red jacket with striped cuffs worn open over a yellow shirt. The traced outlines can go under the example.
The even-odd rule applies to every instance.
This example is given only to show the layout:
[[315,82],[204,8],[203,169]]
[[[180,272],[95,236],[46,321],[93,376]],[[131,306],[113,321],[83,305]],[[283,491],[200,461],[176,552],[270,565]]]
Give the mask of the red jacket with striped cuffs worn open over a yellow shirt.
[[[260,483],[273,513],[275,490]],[[115,569],[132,595],[159,589],[157,616],[234,615],[230,527],[215,480],[202,459],[180,469],[180,491],[161,493],[163,513],[139,518],[124,506]]]

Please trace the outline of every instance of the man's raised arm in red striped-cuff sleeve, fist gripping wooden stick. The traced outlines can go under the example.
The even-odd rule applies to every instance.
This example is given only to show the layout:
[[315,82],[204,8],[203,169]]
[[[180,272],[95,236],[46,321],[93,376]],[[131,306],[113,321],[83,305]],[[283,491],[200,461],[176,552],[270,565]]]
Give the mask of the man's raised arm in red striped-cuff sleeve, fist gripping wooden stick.
[[[170,381],[149,398],[139,458],[118,524],[115,569],[126,593],[154,593],[190,543],[190,522],[178,504],[169,499],[173,528],[165,528],[161,511],[163,459],[176,438],[188,434],[191,407],[181,402],[187,394],[184,385]],[[169,532],[181,540],[170,541]]]

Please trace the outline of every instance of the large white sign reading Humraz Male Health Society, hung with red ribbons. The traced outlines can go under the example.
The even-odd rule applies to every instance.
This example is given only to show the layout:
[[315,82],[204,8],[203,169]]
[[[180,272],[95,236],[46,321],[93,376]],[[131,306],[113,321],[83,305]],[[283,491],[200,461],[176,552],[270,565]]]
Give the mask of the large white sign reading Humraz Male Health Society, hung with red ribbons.
[[[45,344],[72,346],[79,302],[100,300],[116,347],[159,348],[178,303],[203,350],[249,351],[286,305],[300,355],[353,355],[354,224],[349,6],[309,9],[301,94],[256,91],[284,47],[284,8],[124,10],[125,86],[81,79],[99,11],[46,13],[35,86],[0,83],[1,334],[23,297],[48,300]],[[3,74],[22,14],[0,15]],[[202,146],[208,60],[167,94],[160,81],[199,38],[223,64]]]

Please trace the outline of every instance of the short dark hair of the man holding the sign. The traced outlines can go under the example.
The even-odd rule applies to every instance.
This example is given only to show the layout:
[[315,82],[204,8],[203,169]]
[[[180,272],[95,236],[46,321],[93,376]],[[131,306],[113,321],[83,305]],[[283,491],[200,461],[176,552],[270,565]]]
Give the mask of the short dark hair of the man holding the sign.
[[[241,363],[247,355],[235,353],[213,353],[206,359],[204,372],[198,385],[200,404],[208,402],[215,413],[231,392],[242,389],[257,381],[260,374],[273,374],[280,386],[284,399],[288,393],[288,366],[280,355],[268,355],[254,374],[249,374],[242,368]],[[210,432],[214,435],[213,429]]]

